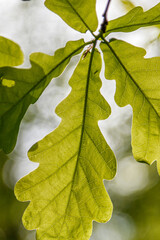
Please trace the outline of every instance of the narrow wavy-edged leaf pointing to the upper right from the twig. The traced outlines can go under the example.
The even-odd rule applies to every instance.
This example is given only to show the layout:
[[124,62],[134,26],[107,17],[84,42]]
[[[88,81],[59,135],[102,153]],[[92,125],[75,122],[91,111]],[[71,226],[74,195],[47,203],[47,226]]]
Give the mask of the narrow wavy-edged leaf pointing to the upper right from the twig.
[[111,32],[132,32],[141,27],[160,24],[160,3],[143,12],[141,7],[133,8],[126,15],[110,21],[105,36]]

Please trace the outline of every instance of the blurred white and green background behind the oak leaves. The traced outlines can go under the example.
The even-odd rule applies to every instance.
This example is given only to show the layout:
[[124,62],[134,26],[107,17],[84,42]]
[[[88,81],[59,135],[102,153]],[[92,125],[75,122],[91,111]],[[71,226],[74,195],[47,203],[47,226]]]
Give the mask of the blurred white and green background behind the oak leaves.
[[[99,23],[107,0],[97,0]],[[32,52],[53,55],[68,40],[84,37],[68,27],[57,15],[50,12],[40,0],[0,0],[0,35],[17,42],[24,54],[22,67],[30,66]],[[158,0],[112,0],[109,20],[119,17],[135,6],[148,10]],[[116,38],[146,49],[146,57],[160,55],[160,28],[149,27],[133,33],[115,33]],[[112,36],[109,36],[112,37]],[[18,202],[13,193],[17,180],[37,167],[27,158],[28,149],[59,124],[55,107],[69,91],[68,80],[80,56],[72,59],[64,73],[54,79],[40,99],[30,106],[18,136],[15,150],[5,155],[0,151],[0,240],[35,240],[35,232],[24,229],[21,217],[27,203]],[[132,156],[130,106],[119,108],[114,102],[115,81],[101,78],[101,92],[112,107],[112,115],[99,126],[117,158],[117,174],[114,180],[104,181],[113,201],[111,220],[105,224],[93,223],[90,240],[159,240],[160,239],[160,178],[156,163],[148,166],[138,163]]]

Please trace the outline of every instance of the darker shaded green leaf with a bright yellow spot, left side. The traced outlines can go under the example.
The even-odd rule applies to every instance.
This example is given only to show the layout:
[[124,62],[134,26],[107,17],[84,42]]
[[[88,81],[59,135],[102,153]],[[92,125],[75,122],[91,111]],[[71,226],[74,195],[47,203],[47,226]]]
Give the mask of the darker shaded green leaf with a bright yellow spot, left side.
[[29,105],[37,101],[51,79],[59,76],[85,45],[83,40],[68,42],[54,56],[33,53],[30,69],[0,68],[0,148],[4,152],[13,150]]

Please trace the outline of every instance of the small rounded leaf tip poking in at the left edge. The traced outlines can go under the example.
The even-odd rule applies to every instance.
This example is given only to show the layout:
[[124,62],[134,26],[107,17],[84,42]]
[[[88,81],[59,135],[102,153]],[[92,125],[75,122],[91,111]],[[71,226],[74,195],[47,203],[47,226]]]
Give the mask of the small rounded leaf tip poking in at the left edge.
[[0,36],[0,67],[18,66],[23,63],[20,47],[11,40]]

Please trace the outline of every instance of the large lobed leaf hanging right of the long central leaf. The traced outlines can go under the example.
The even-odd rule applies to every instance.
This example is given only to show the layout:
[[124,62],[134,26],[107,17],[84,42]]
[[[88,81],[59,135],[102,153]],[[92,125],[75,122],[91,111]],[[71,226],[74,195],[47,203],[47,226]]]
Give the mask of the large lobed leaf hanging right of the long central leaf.
[[160,174],[160,58],[144,59],[144,49],[119,40],[101,49],[105,77],[116,80],[116,103],[133,108],[133,155],[149,164],[157,160]]

